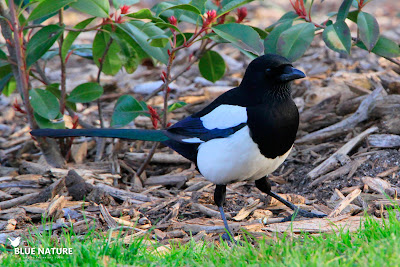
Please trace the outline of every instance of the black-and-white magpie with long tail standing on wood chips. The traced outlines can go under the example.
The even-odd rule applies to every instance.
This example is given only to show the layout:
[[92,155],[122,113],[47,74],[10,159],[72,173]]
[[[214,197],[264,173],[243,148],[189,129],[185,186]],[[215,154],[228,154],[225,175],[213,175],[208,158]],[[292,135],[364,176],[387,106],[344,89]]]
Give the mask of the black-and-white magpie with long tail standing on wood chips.
[[[296,215],[323,217],[298,208],[271,191],[267,175],[288,157],[299,126],[299,113],[291,98],[291,81],[306,75],[286,58],[265,54],[254,59],[240,85],[220,95],[199,112],[164,130],[141,129],[38,129],[33,136],[95,136],[158,141],[196,164],[216,185],[214,202],[224,226],[226,185],[255,181],[256,187],[276,198]],[[225,236],[225,238],[227,238]]]

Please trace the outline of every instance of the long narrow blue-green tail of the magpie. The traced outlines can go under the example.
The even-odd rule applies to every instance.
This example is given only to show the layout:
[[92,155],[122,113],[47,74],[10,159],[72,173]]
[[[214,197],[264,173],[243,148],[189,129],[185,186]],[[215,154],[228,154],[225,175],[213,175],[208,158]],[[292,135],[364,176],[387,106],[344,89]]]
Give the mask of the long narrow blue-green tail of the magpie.
[[161,130],[139,129],[38,129],[31,131],[33,136],[42,137],[111,137],[121,139],[163,142],[169,138]]

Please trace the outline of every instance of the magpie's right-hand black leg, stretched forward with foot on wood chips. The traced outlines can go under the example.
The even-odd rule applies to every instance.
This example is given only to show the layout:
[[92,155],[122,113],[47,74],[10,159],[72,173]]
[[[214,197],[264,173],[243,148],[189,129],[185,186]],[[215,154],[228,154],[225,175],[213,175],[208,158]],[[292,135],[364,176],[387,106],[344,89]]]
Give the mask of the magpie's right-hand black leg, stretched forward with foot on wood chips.
[[313,212],[309,212],[303,209],[300,209],[299,207],[297,207],[296,205],[294,205],[293,203],[287,201],[286,199],[283,199],[282,197],[280,197],[277,193],[274,193],[271,191],[271,185],[269,184],[269,181],[267,179],[267,177],[263,177],[259,180],[256,180],[256,187],[263,193],[270,195],[271,197],[279,200],[280,202],[282,202],[285,206],[287,206],[288,208],[290,208],[291,210],[294,211],[294,213],[286,218],[284,218],[282,221],[286,222],[286,221],[291,221],[294,220],[296,218],[297,215],[303,216],[303,217],[307,217],[307,218],[323,218],[326,215],[325,214],[316,214]]

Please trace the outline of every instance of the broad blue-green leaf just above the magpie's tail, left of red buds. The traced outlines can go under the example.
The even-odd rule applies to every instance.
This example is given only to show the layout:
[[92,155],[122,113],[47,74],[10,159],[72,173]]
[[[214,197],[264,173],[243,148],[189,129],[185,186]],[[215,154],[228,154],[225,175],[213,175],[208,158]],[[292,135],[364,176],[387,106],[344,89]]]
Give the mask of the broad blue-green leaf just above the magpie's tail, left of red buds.
[[111,126],[124,126],[133,121],[137,116],[146,114],[147,107],[144,108],[139,101],[130,95],[121,96],[114,107],[111,117]]

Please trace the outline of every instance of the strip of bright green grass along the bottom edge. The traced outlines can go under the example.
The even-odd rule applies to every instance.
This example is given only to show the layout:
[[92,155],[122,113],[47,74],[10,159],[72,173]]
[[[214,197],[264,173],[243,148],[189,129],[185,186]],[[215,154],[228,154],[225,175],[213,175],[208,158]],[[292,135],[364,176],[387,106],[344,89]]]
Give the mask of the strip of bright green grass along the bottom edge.
[[355,233],[287,236],[234,247],[189,242],[172,245],[166,254],[156,253],[143,238],[124,245],[122,238],[94,231],[79,240],[74,236],[69,230],[60,241],[48,232],[28,240],[30,247],[71,247],[72,255],[28,258],[3,248],[0,266],[104,266],[104,261],[108,266],[400,266],[400,221],[394,212],[383,222],[367,217]]

